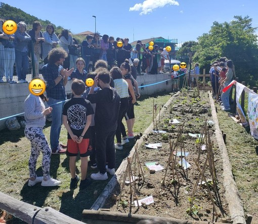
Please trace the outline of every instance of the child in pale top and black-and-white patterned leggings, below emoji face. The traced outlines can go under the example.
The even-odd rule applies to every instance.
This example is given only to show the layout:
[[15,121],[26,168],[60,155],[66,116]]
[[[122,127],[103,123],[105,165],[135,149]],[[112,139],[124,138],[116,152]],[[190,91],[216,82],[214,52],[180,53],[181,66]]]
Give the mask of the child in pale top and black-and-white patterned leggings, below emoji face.
[[[41,182],[41,186],[51,187],[60,185],[61,182],[50,177],[51,149],[43,133],[46,124],[46,115],[50,114],[52,107],[45,109],[43,101],[48,101],[44,95],[34,96],[30,94],[24,101],[24,117],[26,120],[25,137],[30,141],[31,153],[29,158],[29,182],[32,187]],[[36,162],[40,151],[42,157],[43,176],[36,175]]]

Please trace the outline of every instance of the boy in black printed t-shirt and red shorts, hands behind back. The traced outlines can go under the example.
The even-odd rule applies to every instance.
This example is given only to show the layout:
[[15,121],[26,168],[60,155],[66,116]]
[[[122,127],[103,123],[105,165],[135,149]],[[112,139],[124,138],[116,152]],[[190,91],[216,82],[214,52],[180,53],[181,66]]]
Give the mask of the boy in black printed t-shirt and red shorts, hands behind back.
[[79,177],[76,175],[76,158],[80,153],[81,181],[79,189],[83,190],[91,184],[86,178],[88,168],[88,156],[91,154],[90,131],[88,131],[93,109],[88,100],[84,100],[81,95],[85,91],[85,84],[82,80],[74,79],[72,82],[73,98],[64,104],[63,124],[68,131],[67,156],[71,173],[70,189],[77,187]]

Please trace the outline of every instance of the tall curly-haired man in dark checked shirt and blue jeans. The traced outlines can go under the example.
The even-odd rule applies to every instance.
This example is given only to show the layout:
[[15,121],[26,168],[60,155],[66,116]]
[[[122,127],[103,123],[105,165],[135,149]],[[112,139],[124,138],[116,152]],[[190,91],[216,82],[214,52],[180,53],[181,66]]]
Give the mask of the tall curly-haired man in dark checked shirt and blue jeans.
[[50,145],[52,154],[63,154],[66,146],[59,143],[62,110],[66,100],[65,85],[68,76],[71,75],[73,68],[65,70],[62,65],[68,55],[62,48],[53,49],[49,52],[49,63],[42,67],[42,75],[46,81],[46,92],[49,98],[48,105],[53,108],[52,125],[50,130]]

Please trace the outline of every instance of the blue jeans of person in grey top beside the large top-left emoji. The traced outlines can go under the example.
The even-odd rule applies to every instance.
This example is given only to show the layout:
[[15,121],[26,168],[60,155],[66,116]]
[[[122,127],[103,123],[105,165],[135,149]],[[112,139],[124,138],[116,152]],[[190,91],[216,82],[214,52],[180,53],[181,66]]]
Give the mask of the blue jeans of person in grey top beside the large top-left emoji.
[[27,52],[15,51],[15,65],[18,81],[26,80],[26,75],[29,69],[29,58]]

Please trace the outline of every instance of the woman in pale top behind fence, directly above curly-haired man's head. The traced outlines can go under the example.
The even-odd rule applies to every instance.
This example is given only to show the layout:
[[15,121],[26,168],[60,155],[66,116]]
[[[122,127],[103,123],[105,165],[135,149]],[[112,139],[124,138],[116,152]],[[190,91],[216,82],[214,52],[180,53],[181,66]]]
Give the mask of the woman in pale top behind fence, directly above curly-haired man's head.
[[56,48],[60,42],[57,35],[55,34],[55,28],[52,24],[49,24],[46,31],[43,33],[45,41],[42,42],[42,59],[44,64],[48,64],[48,54],[53,49]]

